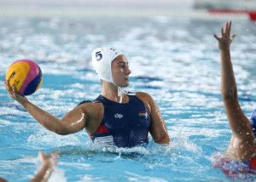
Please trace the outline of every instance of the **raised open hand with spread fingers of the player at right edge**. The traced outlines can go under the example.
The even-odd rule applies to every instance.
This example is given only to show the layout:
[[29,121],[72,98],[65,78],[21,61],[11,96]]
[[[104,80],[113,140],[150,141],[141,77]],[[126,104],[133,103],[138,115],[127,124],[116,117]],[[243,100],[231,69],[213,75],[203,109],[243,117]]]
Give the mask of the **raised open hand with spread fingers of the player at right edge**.
[[227,21],[224,27],[221,28],[221,36],[214,34],[213,36],[218,40],[218,48],[220,50],[230,50],[230,44],[236,37],[236,34],[230,36],[232,21]]

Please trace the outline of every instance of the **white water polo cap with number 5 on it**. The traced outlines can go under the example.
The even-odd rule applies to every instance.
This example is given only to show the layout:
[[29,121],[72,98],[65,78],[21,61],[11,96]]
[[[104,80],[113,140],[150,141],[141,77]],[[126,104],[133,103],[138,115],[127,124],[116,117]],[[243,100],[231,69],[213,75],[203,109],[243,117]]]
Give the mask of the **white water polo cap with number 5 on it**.
[[115,84],[113,82],[111,64],[112,61],[121,54],[123,53],[116,48],[96,48],[92,51],[92,66],[99,79]]

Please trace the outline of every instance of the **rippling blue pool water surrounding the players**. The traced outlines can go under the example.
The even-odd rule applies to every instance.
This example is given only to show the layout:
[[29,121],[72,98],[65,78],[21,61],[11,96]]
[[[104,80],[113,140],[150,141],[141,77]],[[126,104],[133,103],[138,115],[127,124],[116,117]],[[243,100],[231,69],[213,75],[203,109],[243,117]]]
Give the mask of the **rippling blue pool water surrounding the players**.
[[[27,181],[38,169],[38,150],[61,151],[52,181],[230,181],[212,168],[224,153],[230,128],[219,91],[217,42],[224,20],[172,17],[0,19],[0,79],[14,60],[40,65],[44,83],[28,96],[55,117],[82,100],[94,100],[101,85],[90,64],[99,46],[125,51],[130,91],[151,94],[160,106],[171,145],[108,151],[91,144],[85,131],[60,136],[41,127],[0,83],[0,176]],[[250,115],[256,101],[256,26],[234,20],[232,45],[241,107]],[[248,179],[242,174],[239,179]],[[249,175],[248,181],[256,180]]]

